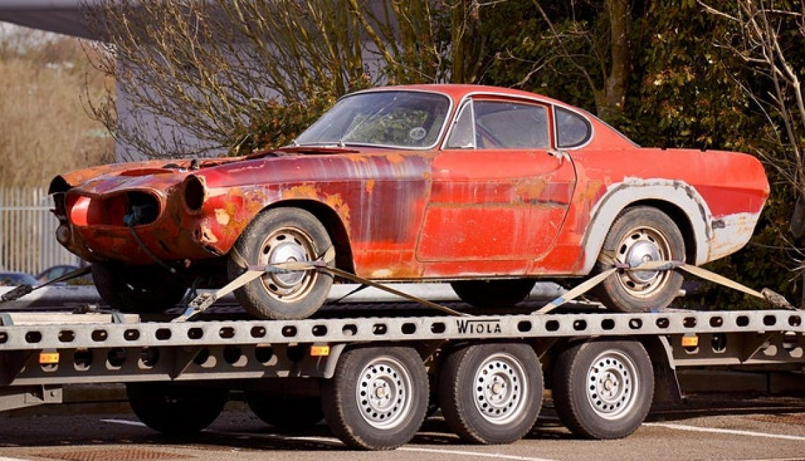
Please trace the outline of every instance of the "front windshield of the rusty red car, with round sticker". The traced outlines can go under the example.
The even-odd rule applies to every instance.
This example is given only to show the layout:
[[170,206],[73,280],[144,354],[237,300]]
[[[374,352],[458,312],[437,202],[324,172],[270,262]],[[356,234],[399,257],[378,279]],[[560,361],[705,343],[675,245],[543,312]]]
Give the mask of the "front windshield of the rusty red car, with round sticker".
[[439,141],[449,109],[448,97],[436,93],[357,93],[341,98],[296,144],[426,149]]

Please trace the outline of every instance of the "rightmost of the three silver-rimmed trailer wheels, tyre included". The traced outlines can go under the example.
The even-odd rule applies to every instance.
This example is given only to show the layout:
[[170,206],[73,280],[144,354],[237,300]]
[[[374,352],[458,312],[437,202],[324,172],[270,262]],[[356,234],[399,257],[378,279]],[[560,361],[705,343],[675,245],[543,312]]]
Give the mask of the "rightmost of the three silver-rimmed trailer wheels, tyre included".
[[588,341],[556,358],[552,395],[559,419],[586,438],[623,438],[642,424],[654,371],[637,341]]

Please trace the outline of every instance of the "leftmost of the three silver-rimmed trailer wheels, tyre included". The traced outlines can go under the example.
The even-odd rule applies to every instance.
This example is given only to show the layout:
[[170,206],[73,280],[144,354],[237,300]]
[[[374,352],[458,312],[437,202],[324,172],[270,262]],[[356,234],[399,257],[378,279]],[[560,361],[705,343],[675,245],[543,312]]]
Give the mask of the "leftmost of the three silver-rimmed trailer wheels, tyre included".
[[345,352],[324,381],[328,426],[349,447],[391,450],[414,437],[425,419],[427,371],[412,348]]

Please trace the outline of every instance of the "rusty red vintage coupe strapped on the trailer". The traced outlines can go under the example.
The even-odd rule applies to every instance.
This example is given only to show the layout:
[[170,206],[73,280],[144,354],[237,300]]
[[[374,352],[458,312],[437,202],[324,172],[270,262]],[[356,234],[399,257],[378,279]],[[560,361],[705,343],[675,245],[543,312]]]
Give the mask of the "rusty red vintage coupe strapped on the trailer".
[[[645,149],[547,97],[445,84],[350,94],[291,146],[89,168],[50,192],[56,237],[124,311],[162,310],[189,286],[331,247],[329,264],[363,278],[449,281],[494,307],[537,278],[733,253],[769,183],[749,155]],[[332,282],[265,274],[236,295],[258,318],[303,319]],[[616,311],[662,309],[681,283],[675,271],[624,270],[597,296]]]

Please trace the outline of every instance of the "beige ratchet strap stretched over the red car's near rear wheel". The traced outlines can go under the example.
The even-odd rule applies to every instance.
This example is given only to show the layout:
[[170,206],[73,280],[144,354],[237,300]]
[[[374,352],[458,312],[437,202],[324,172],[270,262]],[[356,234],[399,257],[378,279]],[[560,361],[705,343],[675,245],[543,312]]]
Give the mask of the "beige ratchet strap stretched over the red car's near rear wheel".
[[545,306],[540,308],[537,311],[532,312],[532,314],[547,314],[550,311],[553,311],[555,308],[563,305],[564,303],[568,303],[568,301],[572,301],[575,298],[578,298],[584,293],[587,293],[589,290],[592,290],[593,287],[597,286],[599,283],[603,282],[605,278],[608,278],[610,275],[614,274],[618,270],[674,270],[674,269],[681,269],[687,272],[688,274],[696,275],[696,277],[704,278],[704,280],[708,280],[710,282],[718,283],[719,285],[726,286],[728,288],[732,288],[733,290],[741,291],[742,293],[749,294],[750,296],[754,296],[755,298],[761,298],[766,302],[772,304],[774,307],[781,307],[783,309],[789,309],[795,311],[796,308],[788,302],[788,300],[782,296],[782,294],[778,294],[773,290],[768,288],[764,288],[761,291],[753,290],[749,288],[749,286],[741,285],[741,283],[735,282],[734,280],[730,280],[729,278],[724,277],[723,275],[716,274],[715,272],[702,269],[696,265],[689,265],[684,263],[683,261],[646,261],[640,265],[636,265],[634,267],[625,264],[616,264],[611,269],[605,270],[601,272],[601,274],[597,274],[593,278],[589,278],[587,281],[581,283],[579,286],[576,286],[572,290],[568,290],[568,292],[559,296],[559,298],[555,298],[551,303],[547,303]]

